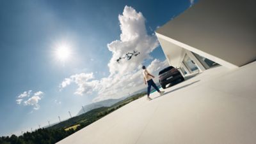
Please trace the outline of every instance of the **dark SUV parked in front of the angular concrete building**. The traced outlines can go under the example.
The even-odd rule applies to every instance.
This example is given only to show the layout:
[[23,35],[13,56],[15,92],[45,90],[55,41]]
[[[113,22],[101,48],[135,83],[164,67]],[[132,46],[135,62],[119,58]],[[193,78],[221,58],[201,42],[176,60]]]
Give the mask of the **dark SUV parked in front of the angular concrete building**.
[[163,89],[166,88],[166,85],[169,83],[172,85],[175,82],[184,81],[184,77],[181,75],[180,71],[172,66],[162,69],[159,71],[159,83]]

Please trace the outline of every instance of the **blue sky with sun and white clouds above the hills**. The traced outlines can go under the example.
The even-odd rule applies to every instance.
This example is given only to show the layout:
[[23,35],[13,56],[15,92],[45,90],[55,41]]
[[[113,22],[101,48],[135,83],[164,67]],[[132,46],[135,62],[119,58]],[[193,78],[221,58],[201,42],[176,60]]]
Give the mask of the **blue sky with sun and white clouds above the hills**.
[[[68,119],[143,89],[141,66],[168,66],[161,27],[193,0],[0,1],[0,136]],[[127,61],[118,57],[137,50]]]

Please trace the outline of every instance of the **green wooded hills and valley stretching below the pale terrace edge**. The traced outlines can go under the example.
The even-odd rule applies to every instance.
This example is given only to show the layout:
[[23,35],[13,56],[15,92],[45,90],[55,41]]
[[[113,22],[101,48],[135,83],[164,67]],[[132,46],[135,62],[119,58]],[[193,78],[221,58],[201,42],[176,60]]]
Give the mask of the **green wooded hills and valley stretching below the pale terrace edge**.
[[73,133],[76,133],[80,129],[92,124],[96,120],[108,115],[109,113],[121,108],[125,104],[131,103],[140,97],[143,97],[146,92],[141,92],[139,94],[134,94],[127,97],[111,106],[102,106],[100,108],[95,108],[89,112],[77,115],[68,120],[55,124],[51,127],[45,127],[42,129],[37,129],[32,133],[26,132],[21,136],[2,136],[0,137],[1,144],[51,144],[56,143]]

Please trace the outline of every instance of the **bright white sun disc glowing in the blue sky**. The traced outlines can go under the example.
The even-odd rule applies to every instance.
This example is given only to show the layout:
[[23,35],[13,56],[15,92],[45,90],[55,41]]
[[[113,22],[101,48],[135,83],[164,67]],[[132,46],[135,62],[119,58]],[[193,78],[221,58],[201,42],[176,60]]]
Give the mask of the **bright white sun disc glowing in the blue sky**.
[[70,52],[70,47],[68,47],[68,45],[62,44],[56,48],[56,57],[60,61],[67,61],[70,55],[71,55],[71,52]]

